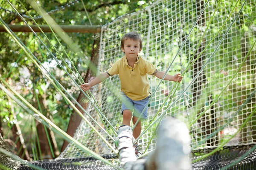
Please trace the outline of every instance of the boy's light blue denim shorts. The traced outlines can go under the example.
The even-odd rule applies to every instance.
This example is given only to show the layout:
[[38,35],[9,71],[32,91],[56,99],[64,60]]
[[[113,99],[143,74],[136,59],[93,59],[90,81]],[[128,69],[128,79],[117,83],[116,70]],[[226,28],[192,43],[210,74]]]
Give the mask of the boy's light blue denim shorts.
[[122,112],[124,110],[131,110],[133,112],[133,116],[135,117],[140,117],[141,112],[146,106],[146,109],[144,113],[141,116],[141,119],[147,119],[147,111],[148,111],[148,99],[150,96],[147,96],[145,99],[142,100],[132,100],[128,96],[126,96],[122,91],[121,91],[121,96],[122,96]]

